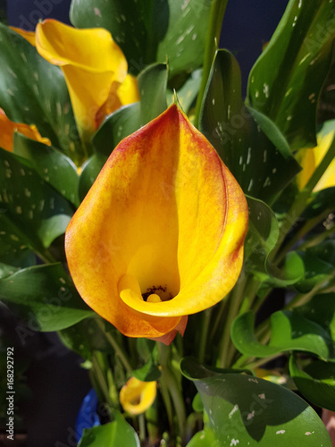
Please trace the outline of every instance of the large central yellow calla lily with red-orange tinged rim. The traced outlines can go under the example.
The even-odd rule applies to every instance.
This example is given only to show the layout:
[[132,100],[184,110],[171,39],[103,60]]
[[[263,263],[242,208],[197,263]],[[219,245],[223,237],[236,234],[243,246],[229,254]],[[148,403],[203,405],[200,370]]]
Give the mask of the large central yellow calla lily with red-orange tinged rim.
[[66,232],[81,297],[130,337],[170,343],[236,283],[247,202],[178,105],[113,150]]

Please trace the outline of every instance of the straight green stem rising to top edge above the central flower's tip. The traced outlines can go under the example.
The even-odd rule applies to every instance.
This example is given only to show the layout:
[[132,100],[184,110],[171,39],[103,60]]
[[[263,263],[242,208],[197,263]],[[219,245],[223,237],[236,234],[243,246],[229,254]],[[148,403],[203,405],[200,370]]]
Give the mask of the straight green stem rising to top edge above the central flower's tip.
[[208,32],[205,41],[205,56],[203,64],[203,74],[200,84],[199,93],[197,95],[197,105],[195,112],[194,124],[199,126],[199,117],[201,107],[203,104],[203,98],[205,95],[205,88],[207,85],[208,77],[211,72],[212,63],[218,42],[220,41],[220,35],[222,30],[222,21],[224,13],[226,11],[228,0],[212,0],[211,11],[209,14]]

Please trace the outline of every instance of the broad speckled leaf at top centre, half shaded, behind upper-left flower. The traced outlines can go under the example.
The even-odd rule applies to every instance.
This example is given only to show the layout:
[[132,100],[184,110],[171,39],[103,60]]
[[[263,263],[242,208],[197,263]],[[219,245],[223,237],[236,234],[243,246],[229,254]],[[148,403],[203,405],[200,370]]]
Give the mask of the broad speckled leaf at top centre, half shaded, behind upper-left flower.
[[77,28],[103,27],[137,74],[149,63],[165,63],[172,75],[192,72],[203,62],[210,3],[174,0],[72,0]]

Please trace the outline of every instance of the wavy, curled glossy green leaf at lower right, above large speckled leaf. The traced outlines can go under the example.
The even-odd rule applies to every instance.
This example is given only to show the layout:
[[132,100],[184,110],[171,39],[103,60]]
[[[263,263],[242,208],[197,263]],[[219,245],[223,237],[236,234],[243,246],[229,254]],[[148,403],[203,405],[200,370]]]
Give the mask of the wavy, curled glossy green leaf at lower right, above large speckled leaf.
[[310,352],[322,359],[334,358],[334,346],[321,325],[295,311],[278,311],[271,316],[271,339],[259,342],[254,331],[255,316],[246,312],[231,325],[231,340],[244,355],[264,358],[289,350]]

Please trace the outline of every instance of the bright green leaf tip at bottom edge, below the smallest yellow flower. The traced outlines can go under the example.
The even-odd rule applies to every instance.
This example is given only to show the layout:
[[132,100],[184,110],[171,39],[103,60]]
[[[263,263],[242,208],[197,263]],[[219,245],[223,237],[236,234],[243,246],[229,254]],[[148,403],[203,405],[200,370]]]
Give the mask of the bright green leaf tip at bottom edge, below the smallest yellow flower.
[[78,447],[139,447],[138,435],[121,413],[113,411],[113,422],[84,430]]

